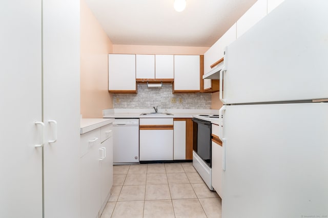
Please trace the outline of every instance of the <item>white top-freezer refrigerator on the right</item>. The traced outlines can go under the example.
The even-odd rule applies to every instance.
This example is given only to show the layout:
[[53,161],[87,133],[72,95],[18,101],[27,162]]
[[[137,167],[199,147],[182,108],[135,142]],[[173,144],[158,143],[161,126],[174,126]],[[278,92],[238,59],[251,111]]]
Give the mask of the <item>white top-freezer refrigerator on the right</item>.
[[283,2],[220,83],[222,217],[328,217],[328,1]]

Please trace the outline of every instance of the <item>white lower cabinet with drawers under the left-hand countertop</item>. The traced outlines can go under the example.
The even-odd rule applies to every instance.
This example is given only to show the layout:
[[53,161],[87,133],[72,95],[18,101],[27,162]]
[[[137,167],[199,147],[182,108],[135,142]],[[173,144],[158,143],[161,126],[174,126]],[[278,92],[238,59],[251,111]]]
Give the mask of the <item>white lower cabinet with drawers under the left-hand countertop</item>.
[[111,132],[108,138],[104,138],[104,131],[101,131],[111,131],[108,127],[111,125],[80,136],[81,149],[87,148],[87,152],[80,157],[81,218],[99,217],[110,196],[113,184],[113,143]]

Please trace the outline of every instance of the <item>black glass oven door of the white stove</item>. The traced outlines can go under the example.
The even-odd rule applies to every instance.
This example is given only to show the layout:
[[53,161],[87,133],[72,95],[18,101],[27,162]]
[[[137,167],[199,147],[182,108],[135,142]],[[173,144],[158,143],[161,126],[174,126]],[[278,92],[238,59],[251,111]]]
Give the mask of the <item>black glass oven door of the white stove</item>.
[[212,166],[211,148],[211,122],[193,118],[194,124],[194,143],[193,149],[210,167]]

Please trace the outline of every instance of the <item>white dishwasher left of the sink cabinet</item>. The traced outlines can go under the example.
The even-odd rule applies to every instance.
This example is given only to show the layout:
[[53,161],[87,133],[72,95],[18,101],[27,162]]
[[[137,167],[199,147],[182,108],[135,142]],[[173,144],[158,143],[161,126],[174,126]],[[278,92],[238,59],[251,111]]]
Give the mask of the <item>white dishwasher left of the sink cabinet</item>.
[[115,119],[113,164],[139,163],[139,119]]

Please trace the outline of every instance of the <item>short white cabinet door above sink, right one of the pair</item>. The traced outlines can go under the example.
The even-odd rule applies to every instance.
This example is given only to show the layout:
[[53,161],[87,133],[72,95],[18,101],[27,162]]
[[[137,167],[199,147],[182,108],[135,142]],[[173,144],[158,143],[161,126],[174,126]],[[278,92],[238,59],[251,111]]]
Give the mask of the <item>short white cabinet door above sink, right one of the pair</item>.
[[155,55],[155,78],[174,78],[174,58],[173,55]]

